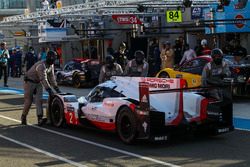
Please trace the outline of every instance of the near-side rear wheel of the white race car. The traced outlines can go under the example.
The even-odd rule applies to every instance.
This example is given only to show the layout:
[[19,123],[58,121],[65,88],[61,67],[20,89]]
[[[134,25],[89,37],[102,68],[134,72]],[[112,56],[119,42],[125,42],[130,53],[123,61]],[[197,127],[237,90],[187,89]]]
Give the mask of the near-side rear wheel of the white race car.
[[137,137],[137,121],[134,113],[128,107],[123,107],[116,122],[120,139],[126,144],[132,144]]

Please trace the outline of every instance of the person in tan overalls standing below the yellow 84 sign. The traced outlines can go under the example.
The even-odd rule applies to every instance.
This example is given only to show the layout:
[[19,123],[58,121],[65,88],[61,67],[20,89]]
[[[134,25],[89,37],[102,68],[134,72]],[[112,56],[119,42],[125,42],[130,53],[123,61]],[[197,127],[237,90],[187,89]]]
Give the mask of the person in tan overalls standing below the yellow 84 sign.
[[174,65],[174,51],[171,49],[171,43],[166,41],[163,43],[161,50],[161,68],[173,68]]

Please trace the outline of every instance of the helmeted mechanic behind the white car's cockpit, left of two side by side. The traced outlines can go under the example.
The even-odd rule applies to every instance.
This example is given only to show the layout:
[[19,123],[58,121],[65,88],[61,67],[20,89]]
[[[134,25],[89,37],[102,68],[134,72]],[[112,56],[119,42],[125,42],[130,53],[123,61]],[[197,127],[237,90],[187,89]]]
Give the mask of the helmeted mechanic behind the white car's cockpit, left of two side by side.
[[103,65],[101,68],[99,75],[99,83],[103,83],[107,80],[110,80],[112,76],[119,76],[122,74],[123,70],[120,64],[115,63],[114,57],[109,55],[106,57],[105,65]]

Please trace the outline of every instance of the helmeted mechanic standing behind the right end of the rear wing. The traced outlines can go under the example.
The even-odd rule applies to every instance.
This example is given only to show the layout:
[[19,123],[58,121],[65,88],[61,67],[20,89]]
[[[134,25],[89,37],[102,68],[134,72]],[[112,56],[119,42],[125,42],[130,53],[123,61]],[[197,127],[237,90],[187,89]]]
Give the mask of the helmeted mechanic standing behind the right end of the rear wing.
[[[213,49],[211,52],[212,61],[207,63],[202,72],[202,86],[223,86],[225,85],[223,79],[230,77],[231,72],[228,64],[223,60],[223,52],[221,49]],[[220,97],[217,90],[210,92],[211,96]]]

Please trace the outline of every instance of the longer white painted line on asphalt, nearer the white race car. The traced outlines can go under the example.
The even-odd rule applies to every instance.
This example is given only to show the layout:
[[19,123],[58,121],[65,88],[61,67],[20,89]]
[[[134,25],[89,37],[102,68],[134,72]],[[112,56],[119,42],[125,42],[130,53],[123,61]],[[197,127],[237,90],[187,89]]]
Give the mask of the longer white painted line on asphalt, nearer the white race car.
[[[16,119],[13,119],[13,118],[10,118],[10,117],[6,117],[6,116],[3,116],[3,115],[0,115],[0,118],[7,119],[7,120],[10,120],[10,121],[13,121],[13,122],[21,123],[21,121],[19,121],[19,120],[16,120]],[[50,133],[53,133],[53,134],[56,134],[56,135],[59,135],[59,136],[67,137],[67,138],[70,138],[70,139],[73,139],[73,140],[76,140],[76,141],[79,141],[79,142],[82,142],[82,143],[91,144],[91,145],[96,146],[96,147],[104,148],[104,149],[111,150],[111,151],[114,151],[114,152],[118,152],[118,153],[121,153],[121,154],[125,154],[125,155],[129,155],[129,156],[136,157],[136,158],[139,158],[139,159],[143,159],[143,160],[146,160],[146,161],[154,162],[154,163],[157,163],[157,164],[160,164],[160,165],[169,166],[169,167],[180,167],[178,165],[174,165],[174,164],[167,163],[167,162],[164,162],[164,161],[160,161],[160,160],[157,160],[157,159],[145,157],[145,156],[142,156],[142,155],[139,155],[139,154],[135,154],[135,153],[128,152],[128,151],[121,150],[121,149],[114,148],[114,147],[110,147],[110,146],[103,145],[103,144],[100,144],[100,143],[92,142],[92,141],[89,141],[89,140],[81,139],[81,138],[78,138],[78,137],[75,137],[75,136],[67,135],[67,134],[64,134],[64,133],[61,133],[61,132],[46,129],[46,128],[39,127],[39,126],[36,126],[36,125],[32,125],[32,124],[28,124],[28,125],[33,127],[33,128],[37,128],[37,129],[40,129],[40,130],[43,130],[43,131],[46,131],[46,132],[50,132]]]

